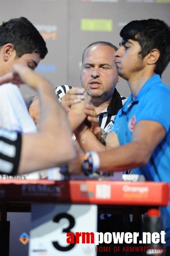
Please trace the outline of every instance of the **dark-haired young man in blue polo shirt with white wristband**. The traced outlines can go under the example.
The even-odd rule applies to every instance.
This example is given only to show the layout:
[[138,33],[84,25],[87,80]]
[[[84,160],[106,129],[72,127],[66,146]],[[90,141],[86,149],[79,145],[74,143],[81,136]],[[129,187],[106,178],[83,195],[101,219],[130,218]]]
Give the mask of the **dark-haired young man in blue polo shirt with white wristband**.
[[[161,82],[170,61],[170,27],[157,19],[135,20],[124,26],[120,35],[115,63],[132,93],[115,118],[106,146],[85,125],[79,127],[76,137],[82,148],[93,150],[86,158],[81,154],[80,162],[86,159],[83,171],[132,169],[147,180],[170,183],[170,88]],[[169,255],[170,204],[161,213]]]

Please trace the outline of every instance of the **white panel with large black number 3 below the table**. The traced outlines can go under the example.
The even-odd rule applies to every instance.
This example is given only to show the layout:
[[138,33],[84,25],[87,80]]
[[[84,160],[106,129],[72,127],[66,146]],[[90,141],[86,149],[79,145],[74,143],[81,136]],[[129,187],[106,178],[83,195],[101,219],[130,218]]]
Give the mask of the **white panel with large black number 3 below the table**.
[[96,256],[95,244],[82,243],[82,236],[68,244],[69,232],[97,232],[97,206],[32,204],[29,256]]

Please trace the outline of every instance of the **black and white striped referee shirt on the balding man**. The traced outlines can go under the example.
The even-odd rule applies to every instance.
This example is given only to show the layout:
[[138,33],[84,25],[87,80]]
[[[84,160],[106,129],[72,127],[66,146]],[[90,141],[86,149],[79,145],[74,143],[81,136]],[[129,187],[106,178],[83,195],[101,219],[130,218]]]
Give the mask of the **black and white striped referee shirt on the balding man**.
[[[73,87],[69,85],[61,85],[55,87],[55,94],[57,95],[59,101],[61,102],[61,98]],[[126,98],[120,96],[118,91],[114,90],[112,101],[109,106],[98,114],[99,126],[104,129],[106,132],[109,132],[112,129],[115,115],[118,113],[119,109],[122,108],[124,103],[126,102]]]

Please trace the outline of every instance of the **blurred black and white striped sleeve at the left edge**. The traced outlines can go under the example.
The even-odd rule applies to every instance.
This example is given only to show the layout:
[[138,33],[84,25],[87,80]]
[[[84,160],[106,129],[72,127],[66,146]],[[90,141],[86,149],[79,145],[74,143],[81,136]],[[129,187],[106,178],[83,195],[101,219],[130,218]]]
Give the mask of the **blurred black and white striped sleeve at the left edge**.
[[20,162],[21,134],[0,128],[0,174],[15,175]]

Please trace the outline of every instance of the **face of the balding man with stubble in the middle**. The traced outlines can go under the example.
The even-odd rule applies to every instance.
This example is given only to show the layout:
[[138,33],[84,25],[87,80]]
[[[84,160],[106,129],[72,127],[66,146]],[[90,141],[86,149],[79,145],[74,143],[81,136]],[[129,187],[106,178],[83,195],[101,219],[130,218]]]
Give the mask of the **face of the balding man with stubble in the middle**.
[[118,82],[115,66],[115,50],[108,45],[93,45],[84,55],[81,68],[81,84],[92,97],[110,99]]

